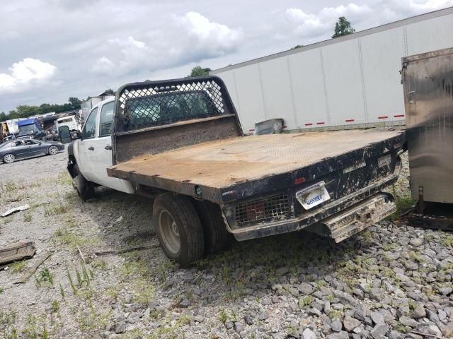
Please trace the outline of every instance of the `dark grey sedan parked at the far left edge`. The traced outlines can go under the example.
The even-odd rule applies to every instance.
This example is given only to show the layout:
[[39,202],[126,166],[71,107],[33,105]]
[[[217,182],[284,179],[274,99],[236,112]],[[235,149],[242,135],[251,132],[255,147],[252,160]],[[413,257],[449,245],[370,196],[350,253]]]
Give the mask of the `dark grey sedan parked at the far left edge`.
[[10,164],[16,161],[16,159],[47,154],[54,155],[61,150],[64,150],[64,145],[54,141],[16,139],[0,145],[0,159],[6,164]]

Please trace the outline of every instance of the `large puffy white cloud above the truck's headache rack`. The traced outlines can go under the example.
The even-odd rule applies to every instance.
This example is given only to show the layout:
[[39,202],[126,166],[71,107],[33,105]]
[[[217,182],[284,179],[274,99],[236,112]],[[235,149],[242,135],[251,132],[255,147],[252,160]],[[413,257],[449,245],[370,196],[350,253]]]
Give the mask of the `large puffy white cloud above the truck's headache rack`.
[[149,30],[138,38],[115,37],[98,47],[102,56],[92,70],[104,75],[121,75],[146,69],[179,66],[233,52],[242,39],[241,30],[210,21],[200,13],[173,16],[165,30]]

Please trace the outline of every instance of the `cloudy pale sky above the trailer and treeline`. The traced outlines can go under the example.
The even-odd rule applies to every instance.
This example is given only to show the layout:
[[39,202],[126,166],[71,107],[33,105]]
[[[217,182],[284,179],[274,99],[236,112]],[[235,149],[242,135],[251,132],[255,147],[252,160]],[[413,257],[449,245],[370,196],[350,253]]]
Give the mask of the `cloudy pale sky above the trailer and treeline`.
[[453,6],[453,0],[1,0],[0,112],[180,78]]

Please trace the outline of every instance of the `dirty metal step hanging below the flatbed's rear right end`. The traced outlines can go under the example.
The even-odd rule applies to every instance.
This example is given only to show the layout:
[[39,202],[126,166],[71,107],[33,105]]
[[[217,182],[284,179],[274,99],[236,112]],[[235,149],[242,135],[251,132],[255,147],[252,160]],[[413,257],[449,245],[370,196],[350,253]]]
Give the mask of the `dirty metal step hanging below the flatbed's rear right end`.
[[395,213],[396,205],[390,200],[390,197],[390,194],[377,194],[358,205],[322,220],[321,224],[328,228],[329,237],[335,239],[337,243],[341,242]]

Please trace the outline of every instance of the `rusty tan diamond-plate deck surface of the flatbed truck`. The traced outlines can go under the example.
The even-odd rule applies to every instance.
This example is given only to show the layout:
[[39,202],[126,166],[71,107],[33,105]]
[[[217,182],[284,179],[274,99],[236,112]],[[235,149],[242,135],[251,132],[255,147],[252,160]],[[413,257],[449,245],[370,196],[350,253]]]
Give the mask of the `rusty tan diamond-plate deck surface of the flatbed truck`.
[[[365,148],[401,131],[382,129],[228,138],[136,157],[108,168],[112,177],[159,178],[223,189],[313,165]],[[357,159],[357,162],[361,159]]]

